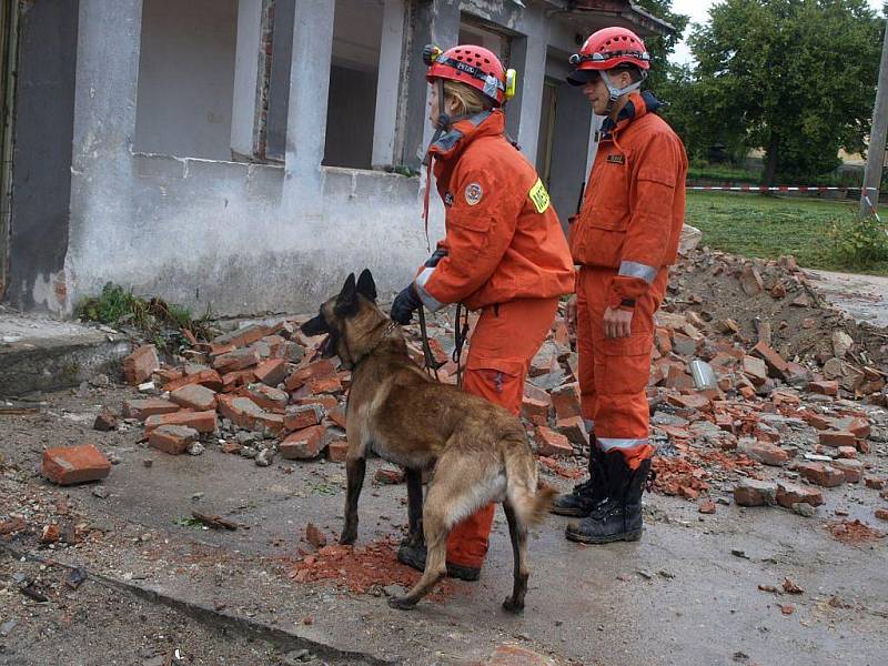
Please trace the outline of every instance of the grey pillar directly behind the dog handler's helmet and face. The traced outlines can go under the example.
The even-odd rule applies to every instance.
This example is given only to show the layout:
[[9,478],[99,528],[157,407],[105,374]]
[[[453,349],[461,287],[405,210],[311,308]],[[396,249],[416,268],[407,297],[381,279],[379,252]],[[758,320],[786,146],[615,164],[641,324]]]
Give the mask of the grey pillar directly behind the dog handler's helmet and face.
[[460,38],[458,0],[416,0],[411,17],[412,39],[406,53],[407,108],[405,113],[403,164],[417,169],[434,130],[428,123],[428,84],[425,81],[423,47],[434,43],[443,49],[456,46]]

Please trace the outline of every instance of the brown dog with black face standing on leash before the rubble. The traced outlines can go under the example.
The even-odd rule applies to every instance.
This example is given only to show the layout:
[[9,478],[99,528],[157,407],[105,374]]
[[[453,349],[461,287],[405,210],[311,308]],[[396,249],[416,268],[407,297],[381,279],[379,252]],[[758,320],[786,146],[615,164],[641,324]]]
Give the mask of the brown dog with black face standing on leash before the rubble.
[[[527,528],[548,509],[555,491],[537,490],[537,468],[517,416],[456,386],[433,381],[407,355],[401,330],[376,305],[370,271],[349,275],[337,296],[302,325],[306,335],[326,333],[323,355],[337,354],[352,370],[345,458],[345,526],[340,543],[357,536],[357,498],[367,450],[407,471],[410,536],[427,545],[425,571],[395,608],[412,608],[446,574],[450,531],[491,502],[502,502],[514,556],[506,610],[524,609]],[[434,470],[423,505],[422,472]]]

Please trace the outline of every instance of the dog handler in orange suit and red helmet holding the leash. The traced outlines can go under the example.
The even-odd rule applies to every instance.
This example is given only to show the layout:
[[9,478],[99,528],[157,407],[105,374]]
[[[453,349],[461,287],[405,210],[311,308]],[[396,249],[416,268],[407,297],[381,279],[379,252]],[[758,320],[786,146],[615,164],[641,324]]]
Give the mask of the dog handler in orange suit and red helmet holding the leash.
[[[531,360],[544,342],[559,296],[573,292],[574,268],[558,216],[536,171],[505,135],[502,110],[514,72],[474,46],[445,52],[426,47],[431,84],[428,149],[446,236],[392,304],[410,322],[425,305],[480,310],[463,389],[518,414]],[[430,183],[431,186],[431,183]],[[447,573],[477,579],[494,505],[468,506],[447,541]],[[397,557],[425,568],[425,547],[403,545]]]

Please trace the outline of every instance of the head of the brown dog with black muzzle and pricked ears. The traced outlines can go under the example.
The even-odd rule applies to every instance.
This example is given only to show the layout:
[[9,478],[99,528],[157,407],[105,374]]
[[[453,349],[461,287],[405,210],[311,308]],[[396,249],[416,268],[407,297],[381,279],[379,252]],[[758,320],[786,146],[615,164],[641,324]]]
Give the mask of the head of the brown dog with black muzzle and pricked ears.
[[321,304],[317,316],[300,327],[305,335],[324,335],[321,356],[339,356],[350,369],[366,349],[366,336],[385,319],[376,306],[376,284],[369,269],[355,281],[350,273],[342,291]]

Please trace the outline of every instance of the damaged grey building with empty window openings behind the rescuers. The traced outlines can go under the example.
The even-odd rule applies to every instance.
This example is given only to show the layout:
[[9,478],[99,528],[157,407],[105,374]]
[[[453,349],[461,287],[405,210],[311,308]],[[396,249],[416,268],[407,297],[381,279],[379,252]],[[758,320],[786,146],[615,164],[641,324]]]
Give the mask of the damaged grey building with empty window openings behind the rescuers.
[[[564,83],[618,0],[17,0],[2,16],[0,293],[73,312],[107,282],[216,315],[302,312],[426,255],[422,49],[518,70],[508,132],[566,219],[595,119]],[[430,235],[443,235],[432,198]]]

